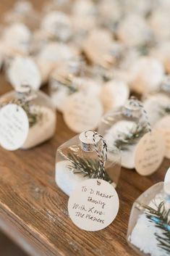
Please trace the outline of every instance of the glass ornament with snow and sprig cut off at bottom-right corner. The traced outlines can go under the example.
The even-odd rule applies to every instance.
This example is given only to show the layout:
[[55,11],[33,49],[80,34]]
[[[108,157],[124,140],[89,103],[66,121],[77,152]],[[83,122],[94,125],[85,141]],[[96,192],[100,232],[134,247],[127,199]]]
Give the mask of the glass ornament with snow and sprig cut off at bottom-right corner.
[[141,256],[170,253],[170,169],[164,182],[156,183],[138,197],[131,210],[127,241]]

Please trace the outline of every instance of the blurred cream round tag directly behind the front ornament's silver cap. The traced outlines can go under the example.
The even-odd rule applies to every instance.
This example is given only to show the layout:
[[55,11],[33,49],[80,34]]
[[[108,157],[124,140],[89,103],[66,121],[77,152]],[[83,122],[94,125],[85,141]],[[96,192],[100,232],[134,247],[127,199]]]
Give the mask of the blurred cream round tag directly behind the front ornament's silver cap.
[[98,126],[103,107],[94,95],[78,92],[68,97],[63,114],[69,128],[76,133],[81,133]]

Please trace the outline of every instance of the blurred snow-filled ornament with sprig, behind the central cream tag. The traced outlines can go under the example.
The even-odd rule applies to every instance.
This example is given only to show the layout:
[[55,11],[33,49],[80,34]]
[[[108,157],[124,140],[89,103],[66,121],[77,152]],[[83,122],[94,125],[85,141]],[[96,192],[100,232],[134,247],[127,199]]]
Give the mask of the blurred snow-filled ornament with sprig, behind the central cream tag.
[[90,91],[90,94],[99,96],[101,81],[88,72],[81,59],[61,62],[49,82],[49,94],[56,109],[63,112],[68,97],[78,91]]

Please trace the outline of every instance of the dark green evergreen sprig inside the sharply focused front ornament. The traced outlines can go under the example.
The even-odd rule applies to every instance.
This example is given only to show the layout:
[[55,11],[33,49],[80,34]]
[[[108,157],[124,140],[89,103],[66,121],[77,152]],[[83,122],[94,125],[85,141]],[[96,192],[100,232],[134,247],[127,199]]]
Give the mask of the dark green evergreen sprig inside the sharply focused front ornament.
[[[89,178],[98,177],[99,161],[88,158],[78,157],[76,154],[67,154],[68,160],[71,162],[67,167],[72,170],[73,173],[83,173]],[[105,173],[104,180],[112,183],[111,178]]]

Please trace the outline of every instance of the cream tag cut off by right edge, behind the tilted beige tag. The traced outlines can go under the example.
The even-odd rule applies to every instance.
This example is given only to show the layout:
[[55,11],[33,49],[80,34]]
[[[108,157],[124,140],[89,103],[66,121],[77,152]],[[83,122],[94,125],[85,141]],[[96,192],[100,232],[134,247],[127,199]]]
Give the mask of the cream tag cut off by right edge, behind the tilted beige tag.
[[166,146],[165,156],[170,159],[170,115],[159,120],[155,127],[161,131]]

